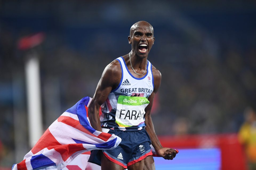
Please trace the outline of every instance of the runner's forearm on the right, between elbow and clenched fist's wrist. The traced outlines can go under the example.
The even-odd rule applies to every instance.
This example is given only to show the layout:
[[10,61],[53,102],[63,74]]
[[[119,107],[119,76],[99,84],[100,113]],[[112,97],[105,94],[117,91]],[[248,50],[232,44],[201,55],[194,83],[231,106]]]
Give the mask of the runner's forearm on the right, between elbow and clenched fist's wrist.
[[163,148],[160,141],[158,140],[158,137],[155,133],[155,130],[154,130],[154,125],[153,125],[153,122],[152,122],[152,119],[151,119],[151,116],[148,116],[146,118],[146,131],[147,133],[149,134],[149,137],[151,139],[151,144],[153,145],[153,147],[155,148],[155,151],[157,152],[159,149]]

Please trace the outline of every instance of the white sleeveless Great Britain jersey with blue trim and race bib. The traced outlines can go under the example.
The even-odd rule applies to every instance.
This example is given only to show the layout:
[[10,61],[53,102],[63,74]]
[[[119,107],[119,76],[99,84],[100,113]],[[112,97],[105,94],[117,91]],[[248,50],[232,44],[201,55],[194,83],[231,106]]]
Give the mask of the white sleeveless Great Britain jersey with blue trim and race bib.
[[118,87],[112,90],[101,106],[100,116],[103,128],[138,131],[145,128],[145,108],[154,90],[152,65],[148,61],[147,72],[142,78],[134,77],[128,70],[125,60],[117,58],[122,70]]

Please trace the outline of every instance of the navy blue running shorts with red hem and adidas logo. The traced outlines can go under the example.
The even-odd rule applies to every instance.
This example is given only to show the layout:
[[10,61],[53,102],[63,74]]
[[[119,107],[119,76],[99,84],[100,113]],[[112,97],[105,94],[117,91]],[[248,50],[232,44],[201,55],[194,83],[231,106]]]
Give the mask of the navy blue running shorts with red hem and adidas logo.
[[[107,133],[119,136],[121,143],[112,150],[102,150],[103,154],[112,162],[124,168],[141,161],[149,155],[153,155],[150,144],[151,140],[145,129],[134,132],[109,130]],[[105,131],[104,131],[105,132]],[[91,151],[88,162],[101,165],[101,150]]]

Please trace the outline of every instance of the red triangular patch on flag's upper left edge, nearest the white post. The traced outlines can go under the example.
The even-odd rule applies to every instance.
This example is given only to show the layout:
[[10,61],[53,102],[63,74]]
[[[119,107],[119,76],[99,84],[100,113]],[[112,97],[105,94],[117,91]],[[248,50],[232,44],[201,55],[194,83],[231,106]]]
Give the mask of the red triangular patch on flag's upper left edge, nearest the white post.
[[31,152],[33,154],[41,151],[43,148],[55,146],[55,145],[61,145],[55,137],[51,134],[49,131],[49,128],[43,133],[43,135],[40,137],[40,139],[37,141],[35,146],[31,149]]

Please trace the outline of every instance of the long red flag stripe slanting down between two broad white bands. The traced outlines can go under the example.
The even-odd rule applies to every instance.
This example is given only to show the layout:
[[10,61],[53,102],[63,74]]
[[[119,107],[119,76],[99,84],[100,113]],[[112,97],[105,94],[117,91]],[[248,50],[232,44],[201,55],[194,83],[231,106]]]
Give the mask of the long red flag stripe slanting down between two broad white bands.
[[87,133],[91,136],[94,136],[94,137],[97,137],[95,136],[93,133],[91,133],[90,131],[88,131],[85,127],[83,127],[79,120],[75,120],[73,118],[70,118],[69,116],[59,116],[58,118],[58,122],[62,122],[62,123],[65,123],[73,128],[76,128],[78,129],[79,131],[82,131],[84,133]]

